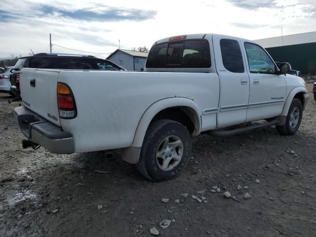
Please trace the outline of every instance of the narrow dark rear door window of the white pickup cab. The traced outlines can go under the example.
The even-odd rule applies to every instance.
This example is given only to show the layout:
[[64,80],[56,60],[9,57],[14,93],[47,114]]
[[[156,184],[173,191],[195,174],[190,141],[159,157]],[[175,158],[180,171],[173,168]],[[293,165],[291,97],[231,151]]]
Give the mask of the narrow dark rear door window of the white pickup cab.
[[243,73],[243,60],[238,41],[221,39],[220,45],[224,67],[232,73]]

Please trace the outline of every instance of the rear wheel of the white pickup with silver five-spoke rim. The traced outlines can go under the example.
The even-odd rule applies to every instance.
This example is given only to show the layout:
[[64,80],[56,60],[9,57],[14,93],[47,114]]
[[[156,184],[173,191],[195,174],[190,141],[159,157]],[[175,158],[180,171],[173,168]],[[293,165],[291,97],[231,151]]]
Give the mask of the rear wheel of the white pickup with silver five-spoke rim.
[[152,181],[169,180],[187,166],[191,150],[191,135],[184,125],[157,120],[146,132],[137,168]]

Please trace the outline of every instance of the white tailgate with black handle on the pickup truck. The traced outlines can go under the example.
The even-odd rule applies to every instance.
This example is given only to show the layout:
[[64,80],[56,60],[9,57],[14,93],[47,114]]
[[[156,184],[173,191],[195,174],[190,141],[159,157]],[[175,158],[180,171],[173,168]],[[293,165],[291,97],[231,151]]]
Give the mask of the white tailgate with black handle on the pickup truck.
[[60,70],[22,69],[20,90],[25,107],[60,126],[57,106],[57,79]]

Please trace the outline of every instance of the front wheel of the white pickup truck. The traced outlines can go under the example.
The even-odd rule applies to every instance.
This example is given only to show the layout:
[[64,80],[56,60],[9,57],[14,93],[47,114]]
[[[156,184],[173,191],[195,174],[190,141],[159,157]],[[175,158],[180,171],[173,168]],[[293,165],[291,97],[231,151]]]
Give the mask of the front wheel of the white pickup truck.
[[284,125],[276,126],[276,130],[281,135],[295,134],[301,124],[302,115],[303,115],[302,103],[299,99],[294,98],[287,112],[286,121]]

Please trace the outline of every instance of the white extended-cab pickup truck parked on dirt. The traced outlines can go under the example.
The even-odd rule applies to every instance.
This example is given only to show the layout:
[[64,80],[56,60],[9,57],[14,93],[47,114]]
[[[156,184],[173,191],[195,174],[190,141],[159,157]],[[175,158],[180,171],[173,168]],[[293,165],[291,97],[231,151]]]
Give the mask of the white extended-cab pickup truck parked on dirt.
[[[120,149],[150,180],[178,175],[191,136],[232,135],[276,125],[294,134],[308,102],[303,79],[287,74],[255,42],[196,34],[158,40],[145,72],[22,69],[14,110],[27,140],[56,154]],[[248,126],[237,124],[263,120]]]

